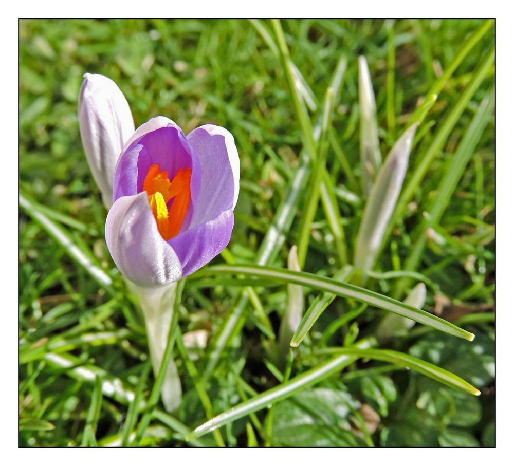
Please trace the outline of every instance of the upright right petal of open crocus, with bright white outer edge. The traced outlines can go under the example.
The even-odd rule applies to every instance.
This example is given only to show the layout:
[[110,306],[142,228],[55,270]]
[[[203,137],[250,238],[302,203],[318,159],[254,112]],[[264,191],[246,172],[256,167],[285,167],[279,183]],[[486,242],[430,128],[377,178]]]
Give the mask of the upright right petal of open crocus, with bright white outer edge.
[[234,137],[221,126],[193,129],[187,140],[201,167],[201,185],[191,180],[191,194],[197,192],[195,213],[189,228],[233,210],[239,196],[240,164]]

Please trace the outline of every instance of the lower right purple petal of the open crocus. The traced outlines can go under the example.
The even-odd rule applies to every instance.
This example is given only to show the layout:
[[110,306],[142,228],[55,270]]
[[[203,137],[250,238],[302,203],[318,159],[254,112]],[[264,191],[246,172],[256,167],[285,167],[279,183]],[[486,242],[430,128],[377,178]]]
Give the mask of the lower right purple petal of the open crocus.
[[170,239],[168,243],[180,259],[183,275],[196,272],[222,252],[230,241],[233,227],[234,212],[228,209]]

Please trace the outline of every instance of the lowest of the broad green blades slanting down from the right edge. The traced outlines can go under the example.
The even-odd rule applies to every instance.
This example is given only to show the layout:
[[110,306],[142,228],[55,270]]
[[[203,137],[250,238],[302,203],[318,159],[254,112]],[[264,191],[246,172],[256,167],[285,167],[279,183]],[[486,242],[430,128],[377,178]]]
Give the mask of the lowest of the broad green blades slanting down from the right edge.
[[[461,143],[457,148],[457,152],[451,160],[451,164],[448,167],[444,177],[440,180],[437,195],[435,196],[432,206],[428,213],[433,223],[439,223],[439,220],[443,216],[445,209],[447,208],[451,196],[457,187],[458,181],[461,179],[466,166],[473,155],[476,144],[478,144],[487,122],[491,117],[491,112],[494,107],[494,88],[488,92],[487,96],[482,100],[480,107],[476,111],[471,124],[469,125]],[[421,254],[425,248],[427,242],[427,229],[428,220],[423,219],[421,226],[418,229],[416,240],[414,245],[411,247],[410,254],[404,264],[404,268],[407,271],[414,271],[417,269],[421,260]],[[403,290],[409,285],[410,279],[404,277],[397,284],[393,296],[398,297],[401,295]]]

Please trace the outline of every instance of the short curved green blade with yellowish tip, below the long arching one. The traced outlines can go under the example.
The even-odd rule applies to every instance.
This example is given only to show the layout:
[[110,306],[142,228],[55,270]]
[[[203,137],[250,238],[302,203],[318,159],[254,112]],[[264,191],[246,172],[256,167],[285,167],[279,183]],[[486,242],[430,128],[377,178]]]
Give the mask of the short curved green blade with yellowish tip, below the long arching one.
[[478,396],[480,391],[471,384],[452,374],[446,369],[438,367],[427,361],[415,358],[400,351],[390,349],[360,349],[360,348],[326,348],[316,351],[316,355],[347,355],[357,356],[359,358],[375,359],[378,361],[386,361],[397,364],[407,369],[413,369],[419,374],[423,374],[437,382],[443,383],[453,388],[458,388],[471,395]]

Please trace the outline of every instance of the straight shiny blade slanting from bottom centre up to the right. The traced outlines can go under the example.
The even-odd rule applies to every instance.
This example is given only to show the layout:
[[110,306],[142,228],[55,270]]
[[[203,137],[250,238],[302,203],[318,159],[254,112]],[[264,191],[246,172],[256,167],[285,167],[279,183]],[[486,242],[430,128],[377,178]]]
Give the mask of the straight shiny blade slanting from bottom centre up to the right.
[[[362,342],[361,347],[366,348],[369,346],[369,342]],[[236,419],[240,419],[244,416],[259,411],[259,409],[265,408],[269,404],[277,403],[281,400],[291,397],[301,390],[319,383],[328,377],[339,372],[343,367],[351,364],[357,358],[350,356],[338,356],[333,358],[313,369],[305,371],[303,374],[291,379],[288,382],[280,384],[276,387],[266,390],[253,398],[250,398],[243,403],[240,403],[222,414],[210,419],[198,426],[193,432],[189,433],[186,439],[195,439],[201,435],[205,435],[212,432],[214,429],[221,427],[229,422]]]

